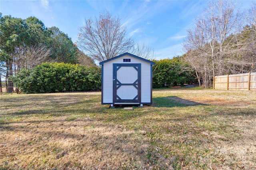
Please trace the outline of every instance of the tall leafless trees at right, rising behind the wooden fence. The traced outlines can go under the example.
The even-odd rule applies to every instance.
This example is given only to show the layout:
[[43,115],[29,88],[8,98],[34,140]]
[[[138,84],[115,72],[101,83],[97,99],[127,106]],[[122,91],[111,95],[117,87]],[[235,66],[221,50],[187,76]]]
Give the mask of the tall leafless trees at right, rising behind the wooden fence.
[[206,88],[215,75],[256,71],[256,2],[246,11],[238,3],[210,1],[184,40],[184,61]]

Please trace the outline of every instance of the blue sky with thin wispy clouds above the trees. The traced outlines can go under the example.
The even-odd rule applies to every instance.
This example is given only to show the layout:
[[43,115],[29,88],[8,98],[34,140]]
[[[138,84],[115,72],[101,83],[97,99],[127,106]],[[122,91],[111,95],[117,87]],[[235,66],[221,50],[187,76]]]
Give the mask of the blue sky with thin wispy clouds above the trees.
[[[206,0],[0,0],[0,12],[26,19],[35,16],[46,27],[56,26],[77,41],[85,18],[108,10],[118,16],[127,35],[154,49],[156,59],[182,55],[188,28],[207,5]],[[243,1],[249,4],[250,1]],[[244,5],[244,8],[245,6]]]

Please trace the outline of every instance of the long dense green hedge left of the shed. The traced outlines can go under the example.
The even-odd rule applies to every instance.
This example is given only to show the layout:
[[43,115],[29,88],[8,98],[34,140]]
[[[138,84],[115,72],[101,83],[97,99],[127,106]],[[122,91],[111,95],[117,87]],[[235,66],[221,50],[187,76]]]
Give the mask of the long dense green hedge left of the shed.
[[67,63],[42,63],[34,69],[23,69],[12,77],[24,93],[92,91],[101,88],[101,71]]

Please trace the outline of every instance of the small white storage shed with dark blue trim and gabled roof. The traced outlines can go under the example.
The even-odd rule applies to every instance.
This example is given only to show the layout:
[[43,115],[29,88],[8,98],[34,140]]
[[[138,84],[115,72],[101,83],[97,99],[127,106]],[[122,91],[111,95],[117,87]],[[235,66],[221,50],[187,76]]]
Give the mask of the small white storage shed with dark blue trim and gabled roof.
[[152,65],[147,59],[124,53],[102,65],[102,105],[152,104]]

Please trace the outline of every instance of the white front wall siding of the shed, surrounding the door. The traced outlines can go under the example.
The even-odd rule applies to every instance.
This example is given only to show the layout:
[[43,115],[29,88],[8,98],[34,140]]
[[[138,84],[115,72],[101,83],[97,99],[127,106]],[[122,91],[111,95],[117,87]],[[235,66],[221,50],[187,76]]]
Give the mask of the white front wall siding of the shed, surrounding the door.
[[[131,62],[123,62],[131,59]],[[151,65],[146,61],[124,55],[104,63],[103,71],[103,103],[113,102],[113,63],[141,63],[141,103],[151,102]]]

